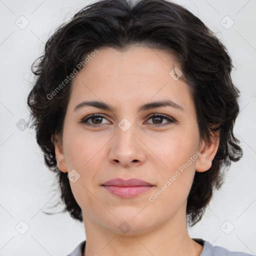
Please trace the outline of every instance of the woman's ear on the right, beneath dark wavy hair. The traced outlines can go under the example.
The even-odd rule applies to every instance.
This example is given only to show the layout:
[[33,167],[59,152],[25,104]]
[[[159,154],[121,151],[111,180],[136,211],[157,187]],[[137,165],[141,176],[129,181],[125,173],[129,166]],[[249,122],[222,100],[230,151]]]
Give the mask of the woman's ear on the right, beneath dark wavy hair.
[[208,170],[211,167],[212,160],[216,155],[219,145],[219,132],[211,134],[209,141],[202,141],[199,151],[200,155],[198,156],[195,163],[195,171],[203,172]]

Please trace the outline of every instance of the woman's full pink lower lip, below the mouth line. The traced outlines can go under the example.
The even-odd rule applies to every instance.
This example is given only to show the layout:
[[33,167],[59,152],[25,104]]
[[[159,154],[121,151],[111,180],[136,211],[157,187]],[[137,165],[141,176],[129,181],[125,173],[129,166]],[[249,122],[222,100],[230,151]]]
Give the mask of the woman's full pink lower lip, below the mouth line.
[[122,198],[131,198],[150,190],[153,186],[103,186],[108,192]]

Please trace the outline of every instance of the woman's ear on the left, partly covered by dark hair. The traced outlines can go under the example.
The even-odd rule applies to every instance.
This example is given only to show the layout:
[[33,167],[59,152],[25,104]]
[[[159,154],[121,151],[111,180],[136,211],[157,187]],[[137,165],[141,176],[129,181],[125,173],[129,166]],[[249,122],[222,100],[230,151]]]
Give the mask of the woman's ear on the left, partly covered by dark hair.
[[55,156],[57,161],[57,167],[62,172],[67,172],[65,156],[63,152],[62,139],[60,135],[54,134],[51,136],[51,141],[55,146]]

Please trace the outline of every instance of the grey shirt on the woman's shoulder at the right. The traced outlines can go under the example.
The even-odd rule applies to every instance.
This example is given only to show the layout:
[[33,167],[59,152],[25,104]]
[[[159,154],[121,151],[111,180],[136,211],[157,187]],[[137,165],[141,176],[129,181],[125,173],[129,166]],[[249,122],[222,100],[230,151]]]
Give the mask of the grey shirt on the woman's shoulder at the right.
[[203,239],[193,238],[193,240],[203,245],[202,252],[199,256],[253,256],[253,254],[241,251],[230,251],[221,246],[213,246],[211,243]]

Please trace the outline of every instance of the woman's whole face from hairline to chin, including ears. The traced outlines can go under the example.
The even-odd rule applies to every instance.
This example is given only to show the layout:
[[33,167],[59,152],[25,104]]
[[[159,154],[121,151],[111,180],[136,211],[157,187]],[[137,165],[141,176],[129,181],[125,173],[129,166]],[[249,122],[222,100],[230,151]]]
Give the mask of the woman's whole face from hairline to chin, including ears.
[[[207,170],[215,151],[207,161],[210,147],[200,143],[188,85],[178,79],[181,68],[170,53],[147,47],[98,50],[73,78],[62,143],[55,147],[59,169],[71,171],[85,227],[90,222],[135,234],[184,222],[195,169]],[[99,101],[111,110],[77,107],[83,101]],[[103,117],[87,118],[91,114]],[[151,186],[141,186],[143,192],[135,195],[134,187],[106,189],[102,184],[113,178],[139,178]]]

